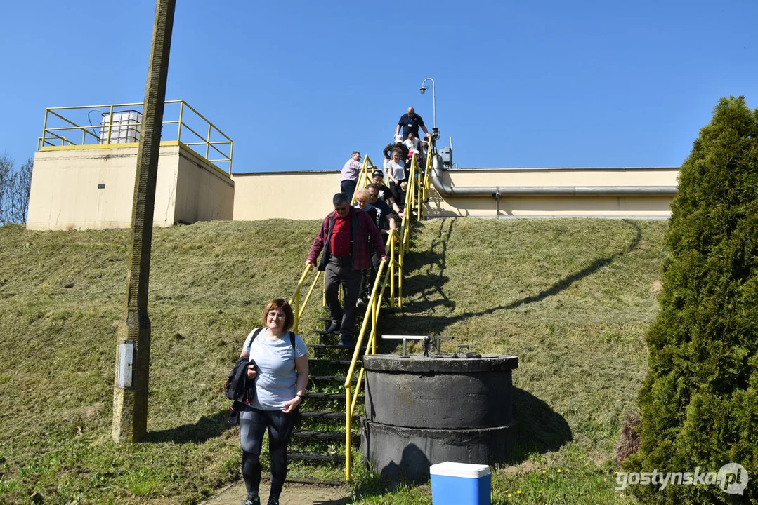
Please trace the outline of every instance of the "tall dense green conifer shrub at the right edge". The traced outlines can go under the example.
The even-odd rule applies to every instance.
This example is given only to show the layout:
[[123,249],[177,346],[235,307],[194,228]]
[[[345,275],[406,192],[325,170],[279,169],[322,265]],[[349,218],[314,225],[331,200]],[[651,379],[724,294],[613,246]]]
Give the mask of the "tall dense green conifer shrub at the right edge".
[[744,494],[719,484],[630,486],[644,503],[758,503],[756,135],[758,108],[722,98],[681,166],[660,312],[647,333],[641,447],[624,464],[718,472],[738,463],[750,481]]

